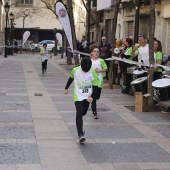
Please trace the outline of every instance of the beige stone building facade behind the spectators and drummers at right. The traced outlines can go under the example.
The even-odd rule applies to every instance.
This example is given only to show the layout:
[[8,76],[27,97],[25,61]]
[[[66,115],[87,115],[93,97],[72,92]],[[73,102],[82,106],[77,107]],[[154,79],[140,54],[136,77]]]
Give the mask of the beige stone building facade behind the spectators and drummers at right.
[[[97,0],[96,6],[93,7],[93,12],[102,14],[100,18],[100,37],[99,31],[91,26],[91,42],[98,41],[101,36],[107,37],[109,42],[112,42],[112,26],[114,16],[114,1]],[[155,37],[162,42],[164,55],[170,55],[170,0],[159,0],[155,4]],[[95,15],[94,15],[95,16]],[[149,38],[150,24],[150,4],[149,1],[140,1],[139,12],[139,34],[145,34]],[[116,38],[134,37],[135,27],[135,3],[133,0],[122,0],[117,19]]]

